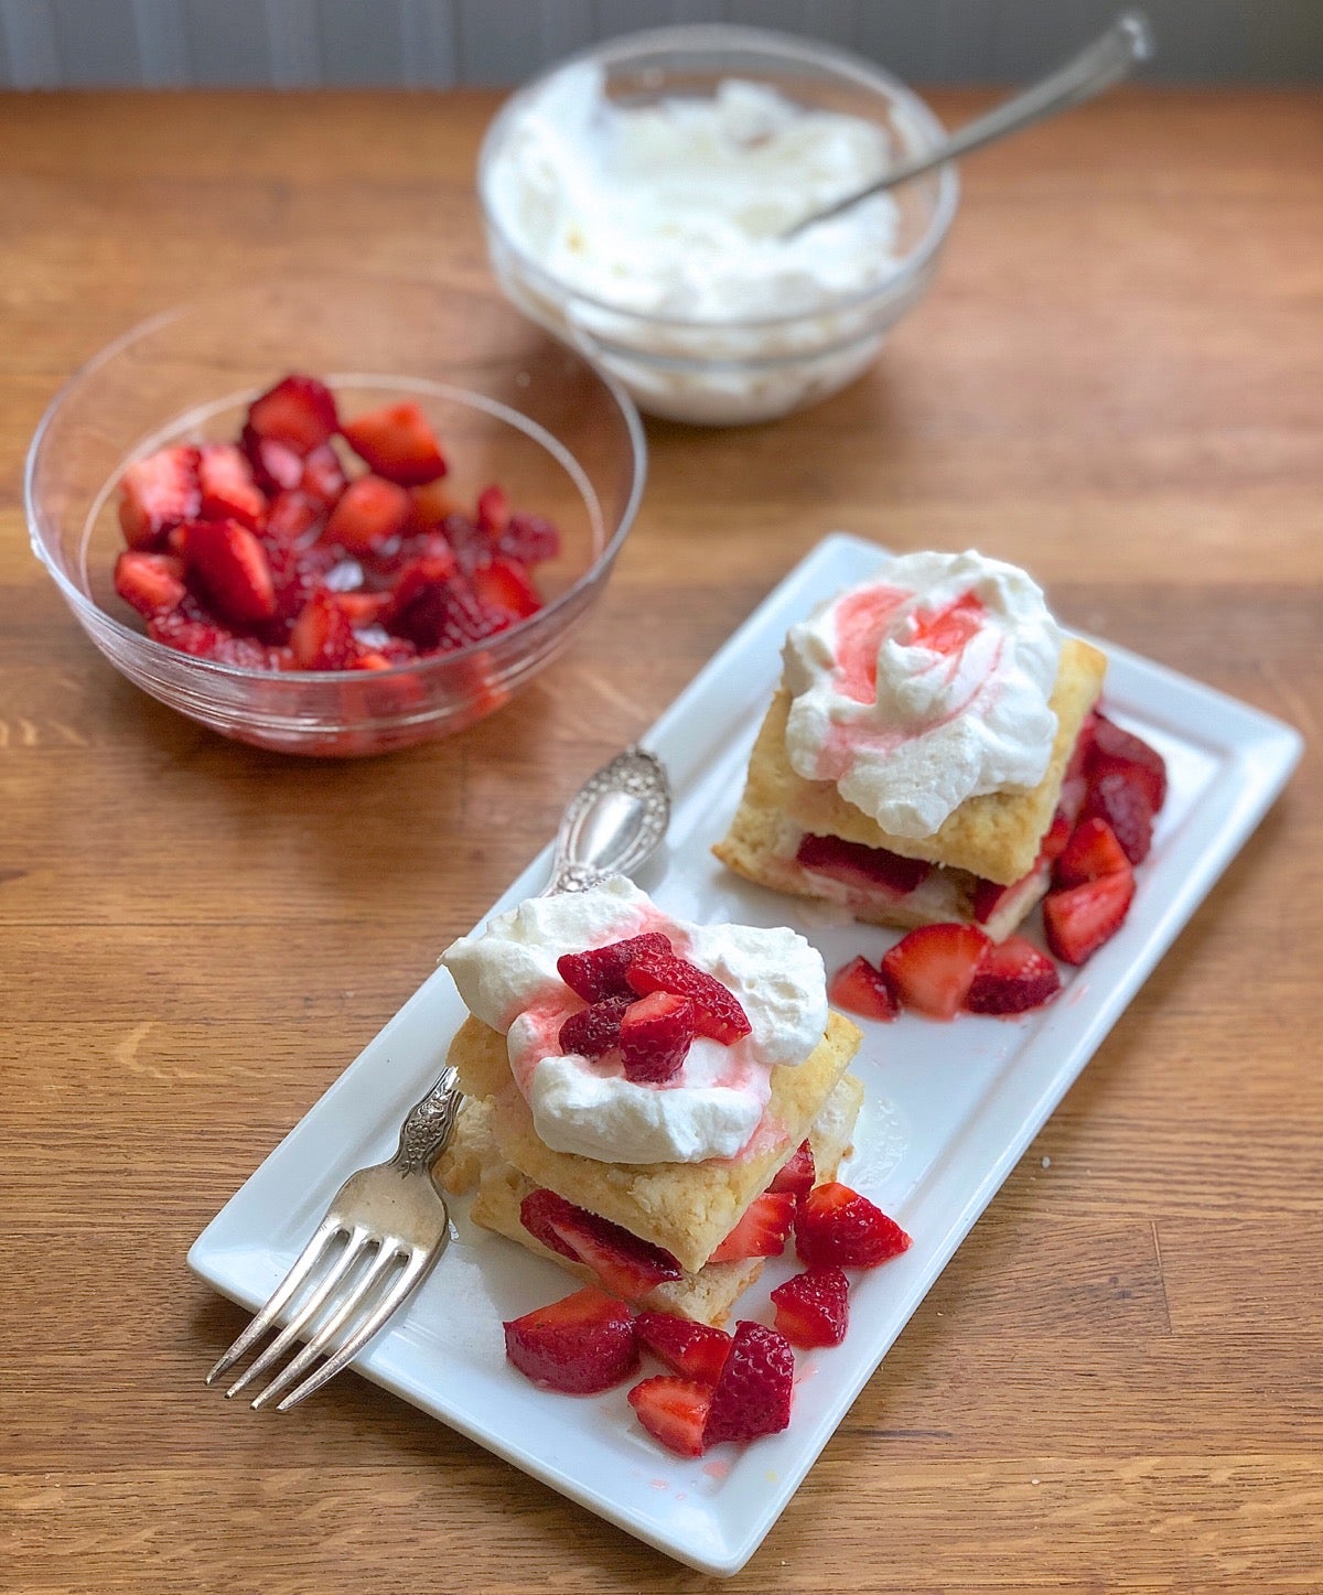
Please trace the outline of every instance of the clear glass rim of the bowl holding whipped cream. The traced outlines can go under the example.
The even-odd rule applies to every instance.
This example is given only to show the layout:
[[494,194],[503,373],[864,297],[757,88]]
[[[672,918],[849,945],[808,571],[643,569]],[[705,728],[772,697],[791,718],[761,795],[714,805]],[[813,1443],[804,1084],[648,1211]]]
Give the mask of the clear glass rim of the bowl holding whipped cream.
[[905,118],[924,139],[929,140],[930,145],[946,137],[946,129],[937,113],[927,100],[914,93],[914,89],[894,73],[887,72],[884,67],[876,65],[865,56],[854,54],[854,51],[841,49],[838,45],[808,40],[796,33],[782,33],[774,29],[742,27],[729,22],[696,22],[680,27],[656,27],[635,33],[622,33],[616,38],[606,40],[605,43],[589,45],[586,49],[576,51],[573,56],[565,56],[562,61],[557,61],[544,72],[530,78],[501,105],[484,134],[482,145],[477,153],[476,182],[479,204],[482,206],[482,220],[488,233],[500,241],[501,247],[514,255],[527,276],[544,284],[546,289],[563,301],[590,305],[594,309],[608,311],[613,316],[637,322],[638,325],[694,330],[712,330],[713,327],[720,327],[721,330],[756,330],[760,327],[772,329],[798,325],[820,316],[835,316],[843,311],[857,309],[881,295],[895,292],[898,286],[903,286],[911,278],[916,278],[927,270],[940,250],[946,233],[951,230],[951,222],[956,215],[956,204],[959,201],[959,177],[956,174],[954,161],[945,161],[935,169],[937,204],[934,206],[927,230],[914,249],[911,249],[910,254],[897,263],[895,271],[883,282],[875,284],[870,289],[860,289],[855,293],[835,298],[812,311],[798,309],[776,316],[734,316],[721,317],[720,321],[710,316],[659,316],[650,311],[630,309],[627,305],[613,303],[611,300],[600,298],[595,293],[586,293],[565,282],[563,278],[547,271],[544,265],[520,249],[496,222],[495,211],[488,201],[488,182],[496,153],[512,123],[519,115],[522,115],[525,107],[530,105],[551,81],[575,67],[589,62],[594,65],[610,67],[622,59],[629,59],[634,54],[651,49],[697,49],[702,46],[709,46],[712,49],[763,49],[768,54],[782,56],[788,61],[827,67],[862,88],[879,91],[884,97],[895,100]]

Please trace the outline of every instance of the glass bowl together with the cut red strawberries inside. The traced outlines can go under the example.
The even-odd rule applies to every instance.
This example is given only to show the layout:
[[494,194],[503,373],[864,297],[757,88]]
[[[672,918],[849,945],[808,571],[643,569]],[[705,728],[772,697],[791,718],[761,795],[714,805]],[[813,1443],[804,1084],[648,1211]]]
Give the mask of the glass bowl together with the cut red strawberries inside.
[[638,507],[638,415],[495,293],[308,276],[110,345],[27,459],[32,545],[132,683],[282,753],[383,753],[506,703]]

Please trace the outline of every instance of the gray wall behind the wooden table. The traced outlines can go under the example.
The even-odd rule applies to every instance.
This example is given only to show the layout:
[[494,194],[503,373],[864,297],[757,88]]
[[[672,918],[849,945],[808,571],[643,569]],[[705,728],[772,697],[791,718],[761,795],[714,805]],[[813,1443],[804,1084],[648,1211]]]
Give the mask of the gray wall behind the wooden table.
[[[504,85],[667,22],[846,45],[919,83],[1020,81],[1124,0],[0,0],[0,86]],[[1147,0],[1167,83],[1323,81],[1323,0]]]

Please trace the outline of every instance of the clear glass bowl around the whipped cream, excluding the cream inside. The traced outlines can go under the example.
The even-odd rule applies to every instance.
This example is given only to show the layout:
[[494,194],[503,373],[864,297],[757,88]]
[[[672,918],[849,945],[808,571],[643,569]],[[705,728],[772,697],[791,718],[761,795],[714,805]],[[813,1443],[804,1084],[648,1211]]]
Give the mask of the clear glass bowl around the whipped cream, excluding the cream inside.
[[712,97],[723,80],[764,83],[811,108],[876,123],[897,158],[945,134],[932,110],[871,62],[828,45],[760,29],[658,29],[611,40],[525,85],[501,108],[479,156],[479,198],[492,266],[509,298],[614,375],[642,410],[675,421],[729,426],[766,421],[817,404],[854,381],[883,338],[927,290],[956,214],[953,166],[894,191],[894,268],[867,292],[823,300],[811,313],[748,319],[640,314],[594,298],[533,258],[501,223],[493,185],[512,129],[557,80],[595,65],[616,104]]

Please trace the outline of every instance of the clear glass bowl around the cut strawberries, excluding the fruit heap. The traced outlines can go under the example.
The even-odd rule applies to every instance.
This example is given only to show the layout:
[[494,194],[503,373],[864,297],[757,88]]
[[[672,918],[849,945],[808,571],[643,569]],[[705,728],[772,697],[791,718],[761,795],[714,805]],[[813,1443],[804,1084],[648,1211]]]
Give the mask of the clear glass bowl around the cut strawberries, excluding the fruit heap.
[[[117,483],[171,442],[235,440],[287,372],[345,415],[417,399],[460,504],[500,482],[547,515],[562,550],[536,568],[544,608],[480,643],[380,671],[265,671],[148,638],[115,593]],[[222,735],[282,753],[402,748],[490,715],[551,664],[600,597],[643,491],[627,394],[493,293],[308,276],[168,311],[118,338],[56,396],[27,456],[32,547],[102,654],[152,697]]]

